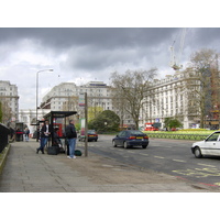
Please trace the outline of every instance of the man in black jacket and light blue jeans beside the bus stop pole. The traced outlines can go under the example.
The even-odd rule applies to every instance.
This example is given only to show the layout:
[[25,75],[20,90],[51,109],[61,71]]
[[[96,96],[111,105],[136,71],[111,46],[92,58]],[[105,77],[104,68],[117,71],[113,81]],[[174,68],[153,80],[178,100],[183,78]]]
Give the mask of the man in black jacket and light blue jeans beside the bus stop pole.
[[65,133],[66,138],[68,139],[68,145],[69,145],[69,156],[67,157],[76,158],[75,146],[76,146],[77,133],[76,133],[76,128],[74,125],[74,120],[69,121],[69,124],[66,127]]

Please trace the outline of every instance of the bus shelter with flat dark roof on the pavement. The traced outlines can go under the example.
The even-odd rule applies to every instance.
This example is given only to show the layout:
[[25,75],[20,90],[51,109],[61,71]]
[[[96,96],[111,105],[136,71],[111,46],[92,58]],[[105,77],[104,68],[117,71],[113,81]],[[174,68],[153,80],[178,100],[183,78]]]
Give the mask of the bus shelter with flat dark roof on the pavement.
[[44,116],[44,119],[47,119],[50,124],[52,124],[52,135],[46,146],[47,154],[67,153],[65,136],[66,118],[76,113],[77,111],[51,111]]

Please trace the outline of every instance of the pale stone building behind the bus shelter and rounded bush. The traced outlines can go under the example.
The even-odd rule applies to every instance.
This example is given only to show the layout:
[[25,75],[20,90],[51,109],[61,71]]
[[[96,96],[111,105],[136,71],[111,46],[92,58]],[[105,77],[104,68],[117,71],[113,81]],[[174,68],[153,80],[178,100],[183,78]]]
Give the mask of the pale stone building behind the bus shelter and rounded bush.
[[[78,114],[82,116],[84,110],[78,106],[78,99],[79,94],[85,92],[88,97],[89,116],[97,116],[105,110],[114,111],[111,87],[103,81],[89,81],[81,86],[76,86],[74,82],[62,82],[43,97],[41,108],[52,111],[76,110]],[[130,123],[132,120],[127,118],[124,124]]]

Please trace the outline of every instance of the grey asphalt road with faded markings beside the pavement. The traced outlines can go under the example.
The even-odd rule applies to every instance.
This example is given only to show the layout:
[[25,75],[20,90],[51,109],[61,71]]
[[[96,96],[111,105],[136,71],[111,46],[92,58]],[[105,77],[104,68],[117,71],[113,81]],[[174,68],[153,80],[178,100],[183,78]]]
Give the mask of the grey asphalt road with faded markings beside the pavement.
[[[190,151],[194,141],[150,139],[147,148],[113,147],[111,135],[99,135],[98,142],[89,142],[88,151],[139,166],[140,169],[162,172],[205,185],[220,186],[220,157],[196,158]],[[84,142],[78,148],[84,152]]]

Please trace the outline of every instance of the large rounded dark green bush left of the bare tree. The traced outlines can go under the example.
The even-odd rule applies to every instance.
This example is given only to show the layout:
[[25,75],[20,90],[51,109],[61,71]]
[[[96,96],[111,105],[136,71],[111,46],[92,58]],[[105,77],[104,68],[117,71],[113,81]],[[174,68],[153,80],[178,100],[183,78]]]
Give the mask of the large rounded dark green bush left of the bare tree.
[[119,116],[111,110],[106,110],[91,120],[88,128],[95,129],[97,132],[114,132],[119,131]]

